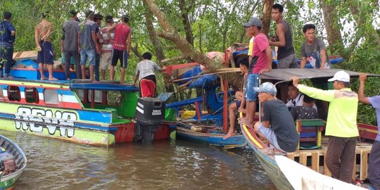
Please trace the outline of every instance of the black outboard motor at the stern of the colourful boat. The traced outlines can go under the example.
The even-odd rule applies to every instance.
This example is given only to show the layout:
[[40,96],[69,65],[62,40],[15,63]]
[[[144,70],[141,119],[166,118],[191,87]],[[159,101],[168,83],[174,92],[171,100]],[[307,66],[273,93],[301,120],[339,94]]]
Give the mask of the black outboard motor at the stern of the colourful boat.
[[165,101],[156,98],[139,98],[134,117],[135,141],[151,144],[158,125],[165,122]]

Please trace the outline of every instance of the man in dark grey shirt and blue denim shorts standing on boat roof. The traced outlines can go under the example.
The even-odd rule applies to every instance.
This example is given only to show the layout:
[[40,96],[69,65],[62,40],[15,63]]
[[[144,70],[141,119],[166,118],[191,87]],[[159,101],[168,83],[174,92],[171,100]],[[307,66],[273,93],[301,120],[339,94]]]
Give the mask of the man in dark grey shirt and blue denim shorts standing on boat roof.
[[86,61],[89,61],[90,80],[94,80],[94,67],[96,53],[100,53],[101,49],[96,40],[96,25],[94,23],[94,12],[86,12],[87,20],[79,24],[79,42],[80,42],[80,67],[82,71],[82,79],[86,79]]

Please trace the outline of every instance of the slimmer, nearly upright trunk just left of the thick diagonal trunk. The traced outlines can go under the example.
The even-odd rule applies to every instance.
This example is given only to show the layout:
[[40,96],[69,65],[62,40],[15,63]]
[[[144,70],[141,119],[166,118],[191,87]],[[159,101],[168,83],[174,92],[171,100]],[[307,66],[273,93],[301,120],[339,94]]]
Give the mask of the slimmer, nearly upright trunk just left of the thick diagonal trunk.
[[148,30],[149,33],[149,38],[151,39],[151,42],[154,46],[154,49],[156,51],[156,57],[158,62],[162,61],[165,59],[165,55],[163,53],[163,46],[160,44],[160,40],[157,37],[156,30],[154,30],[153,26],[153,15],[151,14],[151,11],[149,10],[148,6],[144,4],[144,9],[145,9],[145,25],[146,29]]

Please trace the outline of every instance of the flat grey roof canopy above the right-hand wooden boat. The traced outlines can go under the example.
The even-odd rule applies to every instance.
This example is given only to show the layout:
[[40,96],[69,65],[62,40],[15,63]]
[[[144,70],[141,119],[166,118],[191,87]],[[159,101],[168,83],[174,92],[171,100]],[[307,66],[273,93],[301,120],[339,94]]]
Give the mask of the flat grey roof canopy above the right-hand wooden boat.
[[[310,68],[287,68],[287,69],[272,69],[270,72],[260,74],[261,80],[279,80],[280,82],[291,81],[291,77],[296,76],[300,80],[303,79],[330,79],[335,73],[343,69],[310,69]],[[350,77],[359,77],[360,72],[344,70]],[[380,77],[380,75],[367,73],[369,77]]]

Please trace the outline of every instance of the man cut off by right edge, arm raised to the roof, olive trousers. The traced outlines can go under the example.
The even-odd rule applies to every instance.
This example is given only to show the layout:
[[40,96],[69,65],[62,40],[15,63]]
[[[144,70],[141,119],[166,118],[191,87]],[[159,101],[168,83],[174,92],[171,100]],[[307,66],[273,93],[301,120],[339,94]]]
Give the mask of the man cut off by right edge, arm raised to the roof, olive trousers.
[[[360,73],[360,83],[359,83],[359,101],[371,105],[376,110],[377,126],[380,124],[380,96],[367,97],[364,94],[365,90],[365,80],[367,75]],[[368,174],[369,182],[374,186],[374,189],[380,190],[380,130],[377,137],[372,144],[371,154],[368,158]]]

